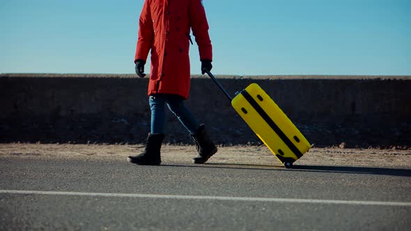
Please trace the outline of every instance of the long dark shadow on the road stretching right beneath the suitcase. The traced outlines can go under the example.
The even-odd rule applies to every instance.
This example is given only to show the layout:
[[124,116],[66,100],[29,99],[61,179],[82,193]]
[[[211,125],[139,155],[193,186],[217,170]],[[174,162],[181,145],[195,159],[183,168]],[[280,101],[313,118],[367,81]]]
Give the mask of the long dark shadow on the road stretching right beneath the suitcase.
[[373,168],[373,167],[350,167],[350,166],[299,166],[286,169],[283,166],[257,165],[257,164],[203,164],[198,166],[192,165],[165,165],[187,168],[224,168],[224,169],[242,169],[242,170],[290,170],[312,173],[349,173],[349,174],[369,174],[369,175],[391,175],[398,177],[411,177],[411,169],[401,168]]

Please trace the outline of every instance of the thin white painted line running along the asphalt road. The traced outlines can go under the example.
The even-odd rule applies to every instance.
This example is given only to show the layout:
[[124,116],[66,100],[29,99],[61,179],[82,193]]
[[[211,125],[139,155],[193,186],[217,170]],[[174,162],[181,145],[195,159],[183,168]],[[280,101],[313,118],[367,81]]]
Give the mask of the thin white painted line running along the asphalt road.
[[0,190],[3,194],[24,195],[52,195],[52,196],[102,196],[114,198],[152,198],[152,199],[178,199],[178,200],[231,200],[247,202],[286,202],[286,203],[311,203],[311,204],[336,204],[336,205],[384,205],[411,207],[411,202],[371,201],[371,200],[318,200],[295,198],[245,198],[228,196],[185,196],[185,195],[160,195],[160,194],[133,194],[133,193],[84,193],[68,191],[21,191]]

